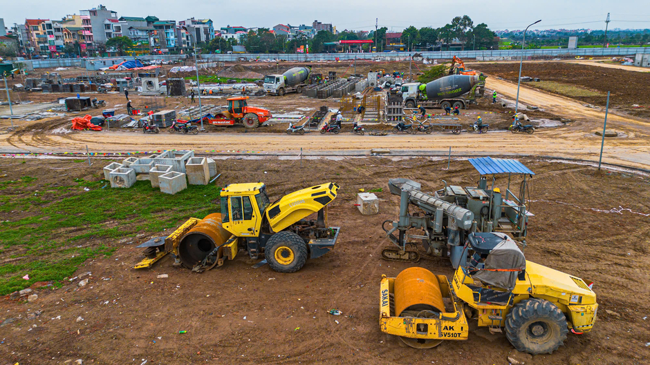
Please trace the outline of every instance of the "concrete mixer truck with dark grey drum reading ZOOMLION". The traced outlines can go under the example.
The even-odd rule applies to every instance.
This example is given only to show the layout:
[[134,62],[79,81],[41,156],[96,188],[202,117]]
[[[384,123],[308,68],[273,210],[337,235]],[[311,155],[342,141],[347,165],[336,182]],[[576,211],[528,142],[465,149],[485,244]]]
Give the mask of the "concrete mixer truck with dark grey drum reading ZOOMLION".
[[406,108],[456,108],[467,109],[476,103],[476,97],[485,92],[485,76],[449,75],[429,83],[402,84],[402,98]]

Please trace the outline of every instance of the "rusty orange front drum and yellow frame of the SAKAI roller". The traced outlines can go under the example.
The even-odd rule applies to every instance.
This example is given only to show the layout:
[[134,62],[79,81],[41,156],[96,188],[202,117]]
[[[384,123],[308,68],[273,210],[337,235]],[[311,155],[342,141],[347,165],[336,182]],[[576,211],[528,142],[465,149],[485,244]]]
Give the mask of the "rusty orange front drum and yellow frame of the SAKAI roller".
[[415,348],[432,348],[443,339],[467,339],[467,319],[449,287],[445,275],[424,268],[407,268],[395,278],[382,275],[382,332]]

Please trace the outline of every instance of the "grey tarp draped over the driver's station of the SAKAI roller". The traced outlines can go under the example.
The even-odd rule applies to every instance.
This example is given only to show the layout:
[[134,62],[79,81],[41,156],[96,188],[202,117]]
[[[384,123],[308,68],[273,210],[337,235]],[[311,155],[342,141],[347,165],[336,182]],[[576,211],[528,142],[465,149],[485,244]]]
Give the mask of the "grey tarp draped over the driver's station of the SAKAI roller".
[[496,245],[488,258],[485,259],[485,269],[480,269],[474,274],[474,278],[485,284],[497,286],[508,290],[514,289],[517,283],[517,271],[492,271],[490,269],[517,269],[526,268],[526,257],[523,256],[517,244],[505,233],[493,233],[503,238],[500,244]]

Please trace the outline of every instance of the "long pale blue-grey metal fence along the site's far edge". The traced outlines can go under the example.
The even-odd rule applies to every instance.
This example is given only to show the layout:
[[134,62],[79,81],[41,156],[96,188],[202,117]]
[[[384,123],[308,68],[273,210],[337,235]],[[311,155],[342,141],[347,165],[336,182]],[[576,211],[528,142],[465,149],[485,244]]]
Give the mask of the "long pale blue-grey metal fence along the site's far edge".
[[[335,60],[353,60],[353,59],[374,59],[386,61],[398,61],[408,59],[409,55],[414,52],[378,52],[378,53],[312,53],[312,54],[254,54],[240,53],[232,55],[201,55],[205,61],[239,61],[244,58],[250,59],[279,59],[283,61],[335,61]],[[452,59],[452,57],[461,57],[463,59],[490,59],[508,57],[521,57],[521,50],[464,50],[464,51],[443,51],[443,52],[418,52],[427,59]],[[611,56],[632,56],[637,53],[649,53],[650,47],[634,48],[557,48],[544,50],[526,50],[526,57],[611,57]],[[187,55],[153,55],[140,57],[119,57],[122,59],[143,59],[177,61],[187,59]],[[20,61],[26,65],[27,70],[35,68],[57,68],[57,67],[86,67],[86,62],[106,61],[106,59],[115,59],[115,57],[106,58],[89,58],[89,59],[34,59]]]

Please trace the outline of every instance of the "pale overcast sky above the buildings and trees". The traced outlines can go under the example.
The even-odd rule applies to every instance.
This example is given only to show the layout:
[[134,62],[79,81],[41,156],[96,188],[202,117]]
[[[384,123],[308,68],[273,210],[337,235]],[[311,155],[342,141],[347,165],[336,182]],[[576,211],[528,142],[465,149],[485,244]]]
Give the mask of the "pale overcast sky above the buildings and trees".
[[[1,0],[0,18],[5,25],[24,23],[30,19],[61,19],[66,14],[94,8],[100,1]],[[118,17],[155,15],[163,20],[189,17],[210,18],[215,28],[243,26],[271,28],[277,23],[292,26],[310,25],[315,19],[333,23],[337,30],[372,30],[375,18],[379,26],[400,31],[408,26],[438,28],[453,17],[467,14],[474,24],[487,23],[492,30],[523,29],[542,19],[532,29],[605,28],[607,12],[611,12],[609,29],[650,28],[648,0],[110,0],[102,2]],[[445,10],[445,11],[440,11]]]

